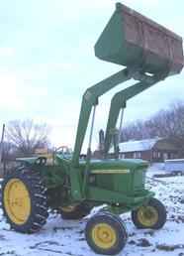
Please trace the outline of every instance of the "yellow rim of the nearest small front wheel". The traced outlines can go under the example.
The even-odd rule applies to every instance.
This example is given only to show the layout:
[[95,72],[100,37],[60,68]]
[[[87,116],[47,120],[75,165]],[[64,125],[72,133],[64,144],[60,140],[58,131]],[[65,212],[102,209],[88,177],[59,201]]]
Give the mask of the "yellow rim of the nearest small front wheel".
[[117,241],[117,233],[111,225],[99,223],[92,229],[92,239],[98,247],[110,249]]

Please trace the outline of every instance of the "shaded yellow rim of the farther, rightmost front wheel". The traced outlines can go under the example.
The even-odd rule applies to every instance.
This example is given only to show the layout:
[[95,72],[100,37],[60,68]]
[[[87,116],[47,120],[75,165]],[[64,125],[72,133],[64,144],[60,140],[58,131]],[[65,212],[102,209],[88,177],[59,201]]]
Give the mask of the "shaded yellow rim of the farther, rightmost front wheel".
[[153,206],[142,206],[138,209],[138,221],[145,227],[151,227],[158,221],[158,212]]

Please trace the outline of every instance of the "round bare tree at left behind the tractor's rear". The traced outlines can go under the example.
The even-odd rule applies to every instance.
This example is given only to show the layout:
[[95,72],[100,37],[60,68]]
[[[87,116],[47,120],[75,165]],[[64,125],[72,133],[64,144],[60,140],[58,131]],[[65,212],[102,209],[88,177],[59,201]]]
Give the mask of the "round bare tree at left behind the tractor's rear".
[[6,138],[18,153],[31,156],[37,148],[48,146],[48,133],[46,124],[36,124],[33,120],[14,120],[7,126]]

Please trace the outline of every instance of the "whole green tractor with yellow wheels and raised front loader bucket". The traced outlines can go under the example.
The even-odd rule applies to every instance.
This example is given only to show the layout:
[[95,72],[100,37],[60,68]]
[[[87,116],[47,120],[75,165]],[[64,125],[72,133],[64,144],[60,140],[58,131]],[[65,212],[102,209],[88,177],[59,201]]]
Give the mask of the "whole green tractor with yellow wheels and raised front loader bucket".
[[[125,68],[84,93],[73,153],[59,149],[53,154],[51,163],[46,163],[46,157],[18,159],[20,167],[4,177],[2,207],[14,230],[33,233],[46,223],[48,208],[60,212],[64,219],[80,219],[93,207],[105,204],[89,217],[85,237],[96,253],[115,255],[128,240],[120,214],[131,211],[138,228],[159,229],[166,221],[164,205],[144,186],[148,163],[119,159],[116,126],[119,116],[122,126],[129,99],[167,76],[180,73],[183,68],[182,39],[118,3],[95,45],[95,55]],[[103,159],[95,160],[91,141],[99,97],[128,80],[136,80],[136,83],[112,98]],[[86,158],[81,159],[90,115],[89,146]],[[109,159],[112,145],[115,157]]]

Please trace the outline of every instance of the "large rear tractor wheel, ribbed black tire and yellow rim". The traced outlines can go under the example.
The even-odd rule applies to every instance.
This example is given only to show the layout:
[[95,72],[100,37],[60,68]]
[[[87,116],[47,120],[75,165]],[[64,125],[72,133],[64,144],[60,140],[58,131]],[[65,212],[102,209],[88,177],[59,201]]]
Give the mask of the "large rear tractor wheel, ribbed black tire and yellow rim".
[[22,233],[39,231],[47,218],[46,188],[34,171],[16,170],[2,183],[2,207],[10,226]]

